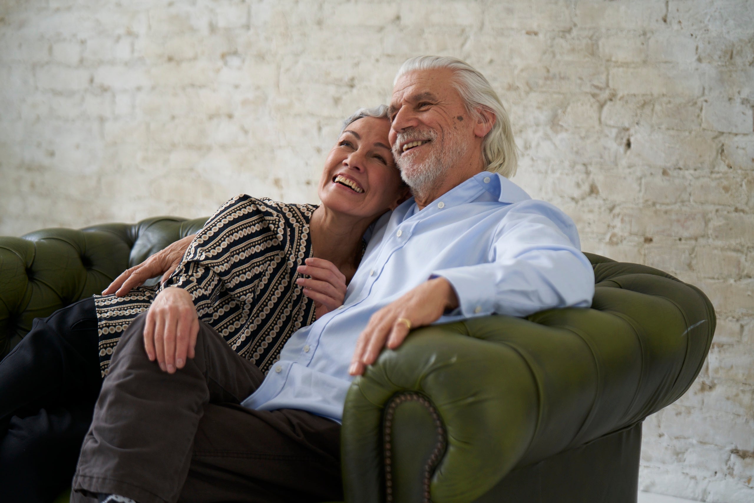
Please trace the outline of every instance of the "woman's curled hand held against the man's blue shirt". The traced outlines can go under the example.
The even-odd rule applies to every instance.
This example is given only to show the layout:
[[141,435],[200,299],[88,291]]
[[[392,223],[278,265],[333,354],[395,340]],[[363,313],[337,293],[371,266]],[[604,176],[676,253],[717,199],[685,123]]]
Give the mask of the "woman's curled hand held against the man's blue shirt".
[[296,284],[304,287],[304,295],[314,301],[314,314],[317,319],[343,305],[345,299],[345,276],[339,269],[324,259],[306,259],[306,265],[299,265],[296,271],[311,276],[299,278]]

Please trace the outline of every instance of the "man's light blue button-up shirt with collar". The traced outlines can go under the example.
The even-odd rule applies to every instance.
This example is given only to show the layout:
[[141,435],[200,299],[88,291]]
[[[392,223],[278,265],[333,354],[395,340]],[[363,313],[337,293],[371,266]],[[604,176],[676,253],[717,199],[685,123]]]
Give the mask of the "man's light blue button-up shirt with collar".
[[459,307],[436,323],[589,307],[594,274],[569,216],[496,173],[482,172],[419,211],[413,199],[375,225],[345,303],[291,336],[262,385],[242,403],[302,409],[340,421],[348,366],[369,317],[442,276]]

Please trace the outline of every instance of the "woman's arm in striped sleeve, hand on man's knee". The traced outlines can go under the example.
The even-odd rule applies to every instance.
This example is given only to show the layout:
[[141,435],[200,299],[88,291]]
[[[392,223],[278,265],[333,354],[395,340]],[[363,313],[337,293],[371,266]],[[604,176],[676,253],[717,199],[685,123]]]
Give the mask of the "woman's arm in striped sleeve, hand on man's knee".
[[267,268],[250,264],[260,253],[280,259],[284,225],[264,201],[248,195],[232,198],[207,220],[149,308],[144,345],[150,360],[174,373],[194,355],[198,320],[216,327],[228,315],[222,302],[256,302],[254,287]]

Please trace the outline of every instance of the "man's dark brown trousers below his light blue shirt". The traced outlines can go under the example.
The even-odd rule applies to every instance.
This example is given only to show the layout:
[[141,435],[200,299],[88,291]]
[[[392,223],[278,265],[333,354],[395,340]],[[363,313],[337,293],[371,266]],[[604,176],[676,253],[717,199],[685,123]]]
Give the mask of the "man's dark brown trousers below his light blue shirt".
[[71,501],[342,499],[340,425],[302,410],[239,405],[264,379],[200,322],[195,358],[173,375],[149,361],[146,313],[115,349],[81,447]]

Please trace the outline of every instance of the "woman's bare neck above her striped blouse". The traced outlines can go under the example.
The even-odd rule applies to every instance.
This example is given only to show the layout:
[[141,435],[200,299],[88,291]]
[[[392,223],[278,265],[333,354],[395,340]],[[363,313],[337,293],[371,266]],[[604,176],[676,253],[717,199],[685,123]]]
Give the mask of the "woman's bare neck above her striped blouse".
[[312,254],[333,262],[349,283],[361,260],[364,232],[373,221],[336,213],[320,204],[309,222]]

